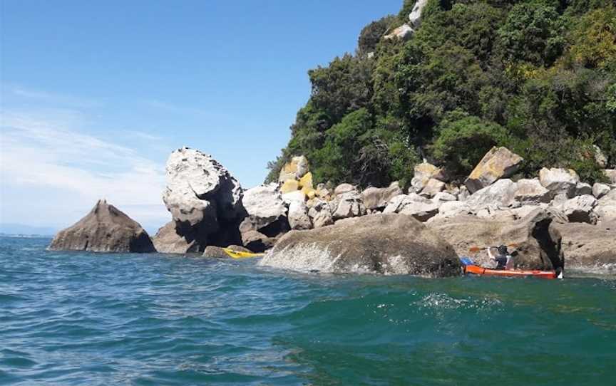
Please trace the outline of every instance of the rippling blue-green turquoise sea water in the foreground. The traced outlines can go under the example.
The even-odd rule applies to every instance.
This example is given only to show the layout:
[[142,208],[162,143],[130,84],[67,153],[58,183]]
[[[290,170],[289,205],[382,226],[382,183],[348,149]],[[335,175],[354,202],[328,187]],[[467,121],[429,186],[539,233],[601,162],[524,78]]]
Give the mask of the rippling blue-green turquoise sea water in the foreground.
[[299,275],[0,239],[0,384],[616,385],[616,280]]

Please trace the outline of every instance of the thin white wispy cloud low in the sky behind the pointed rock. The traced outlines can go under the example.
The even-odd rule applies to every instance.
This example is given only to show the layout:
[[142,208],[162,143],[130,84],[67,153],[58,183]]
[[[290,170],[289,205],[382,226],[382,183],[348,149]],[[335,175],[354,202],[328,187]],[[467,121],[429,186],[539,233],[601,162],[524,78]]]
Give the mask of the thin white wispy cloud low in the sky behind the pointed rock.
[[83,133],[75,122],[47,121],[36,112],[3,110],[0,130],[1,182],[5,191],[19,192],[19,197],[6,197],[0,204],[8,217],[3,221],[19,222],[14,217],[22,209],[11,207],[11,199],[27,199],[34,208],[26,210],[35,213],[58,212],[58,202],[46,199],[51,195],[61,196],[63,204],[71,206],[63,210],[71,211],[72,217],[53,219],[64,226],[103,197],[137,221],[162,224],[167,219],[160,198],[165,186],[162,163]]

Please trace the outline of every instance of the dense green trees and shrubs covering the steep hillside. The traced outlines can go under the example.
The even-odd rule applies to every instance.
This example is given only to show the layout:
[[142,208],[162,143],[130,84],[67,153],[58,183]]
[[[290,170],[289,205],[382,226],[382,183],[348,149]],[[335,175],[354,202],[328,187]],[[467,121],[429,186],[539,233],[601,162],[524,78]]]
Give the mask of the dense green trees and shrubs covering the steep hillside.
[[411,39],[383,39],[414,3],[366,26],[354,55],[309,71],[268,180],[300,154],[317,182],[406,184],[421,157],[462,178],[493,145],[524,157],[528,176],[572,167],[600,180],[593,145],[616,166],[612,0],[429,0]]

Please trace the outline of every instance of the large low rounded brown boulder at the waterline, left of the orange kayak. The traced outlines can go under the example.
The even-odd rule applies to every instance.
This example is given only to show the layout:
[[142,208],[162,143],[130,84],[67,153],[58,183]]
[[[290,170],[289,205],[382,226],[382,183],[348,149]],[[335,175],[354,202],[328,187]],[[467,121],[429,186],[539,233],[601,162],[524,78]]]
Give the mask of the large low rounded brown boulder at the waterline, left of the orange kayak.
[[260,264],[324,273],[461,274],[451,245],[404,214],[371,214],[327,228],[290,231]]

